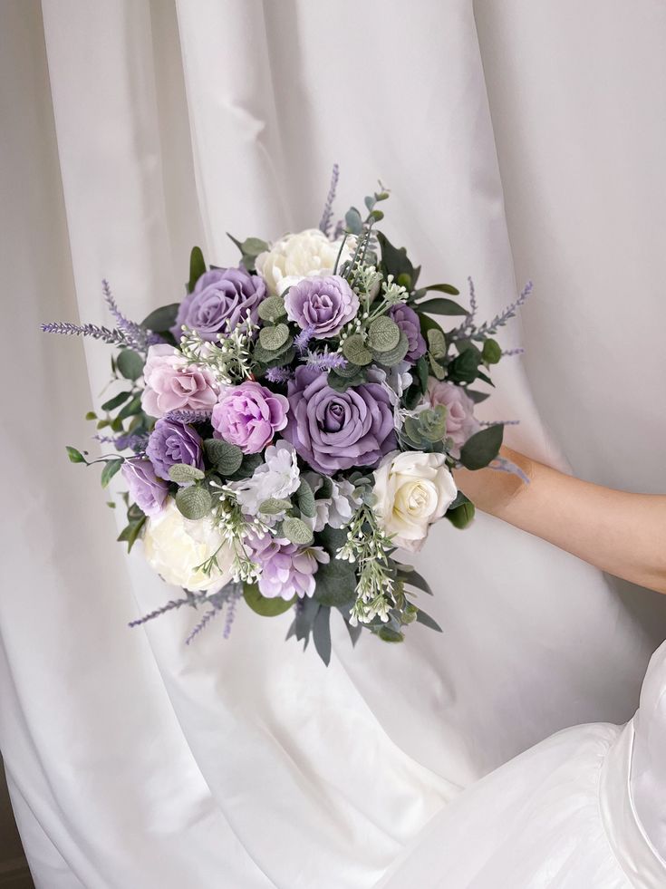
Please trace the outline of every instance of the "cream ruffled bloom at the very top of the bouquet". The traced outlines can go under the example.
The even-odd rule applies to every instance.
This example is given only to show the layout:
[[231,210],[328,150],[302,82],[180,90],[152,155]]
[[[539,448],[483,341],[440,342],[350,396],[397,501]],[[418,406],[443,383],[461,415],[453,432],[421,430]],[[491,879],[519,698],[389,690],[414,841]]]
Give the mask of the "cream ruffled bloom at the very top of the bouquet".
[[[340,250],[340,241],[329,241],[318,228],[306,228],[285,235],[256,257],[256,271],[265,279],[272,295],[282,295],[287,287],[312,275],[332,275]],[[340,265],[351,259],[356,239],[347,238]]]

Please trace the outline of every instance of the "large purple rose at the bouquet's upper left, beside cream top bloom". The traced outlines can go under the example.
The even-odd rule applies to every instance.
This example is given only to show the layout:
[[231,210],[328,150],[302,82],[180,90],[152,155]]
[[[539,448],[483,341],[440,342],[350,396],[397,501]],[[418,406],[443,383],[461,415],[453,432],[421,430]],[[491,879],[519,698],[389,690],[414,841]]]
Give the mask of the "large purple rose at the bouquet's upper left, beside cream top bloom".
[[250,275],[244,268],[211,268],[180,304],[171,333],[178,341],[180,328],[187,324],[202,339],[216,343],[217,333],[227,333],[227,322],[232,328],[243,324],[249,312],[256,323],[256,309],[264,297],[263,278]]

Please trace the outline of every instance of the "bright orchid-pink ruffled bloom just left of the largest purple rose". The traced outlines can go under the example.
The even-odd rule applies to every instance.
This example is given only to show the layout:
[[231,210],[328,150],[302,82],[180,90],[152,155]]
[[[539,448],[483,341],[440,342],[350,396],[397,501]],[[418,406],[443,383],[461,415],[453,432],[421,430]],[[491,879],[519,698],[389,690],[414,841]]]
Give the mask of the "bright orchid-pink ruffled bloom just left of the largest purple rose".
[[242,382],[220,392],[211,422],[216,439],[235,444],[244,454],[258,454],[285,429],[289,402],[258,382]]

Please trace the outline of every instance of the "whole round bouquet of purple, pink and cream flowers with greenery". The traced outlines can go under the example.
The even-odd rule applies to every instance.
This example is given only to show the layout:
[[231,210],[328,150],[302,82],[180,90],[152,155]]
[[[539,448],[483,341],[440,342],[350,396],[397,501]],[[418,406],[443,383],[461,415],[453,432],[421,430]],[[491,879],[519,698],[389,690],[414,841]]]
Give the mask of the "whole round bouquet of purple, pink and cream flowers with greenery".
[[[414,621],[439,630],[413,601],[428,583],[396,548],[418,551],[441,518],[471,521],[452,468],[516,470],[498,457],[503,424],[479,423],[474,407],[503,355],[497,328],[529,285],[478,324],[471,281],[469,308],[451,285],[420,286],[420,268],[377,229],[385,190],[333,227],[336,181],[334,169],[319,228],[232,238],[231,268],[195,247],[187,294],[141,324],[104,282],[112,329],[43,325],[115,350],[115,393],[87,415],[114,452],[67,450],[102,464],[102,487],[120,471],[118,539],[141,539],[183,590],[135,624],[189,604],[206,608],[190,639],[221,612],[228,634],[243,599],[265,616],[292,609],[287,637],[312,636],[324,662],[332,610],[352,643],[363,629],[401,642]],[[461,321],[444,329],[433,316]]]

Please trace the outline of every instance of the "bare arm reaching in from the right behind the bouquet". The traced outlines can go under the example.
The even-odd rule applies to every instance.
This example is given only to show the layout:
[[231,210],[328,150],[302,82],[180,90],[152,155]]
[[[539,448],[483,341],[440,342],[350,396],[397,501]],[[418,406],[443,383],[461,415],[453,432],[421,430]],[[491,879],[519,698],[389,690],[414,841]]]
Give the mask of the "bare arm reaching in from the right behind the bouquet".
[[567,476],[507,448],[530,479],[495,469],[455,473],[479,509],[609,574],[666,593],[666,496],[629,494]]

